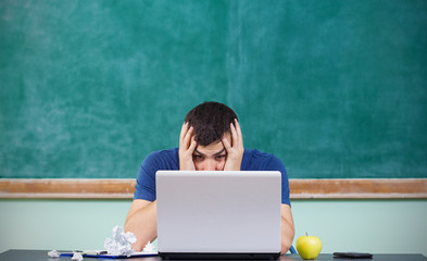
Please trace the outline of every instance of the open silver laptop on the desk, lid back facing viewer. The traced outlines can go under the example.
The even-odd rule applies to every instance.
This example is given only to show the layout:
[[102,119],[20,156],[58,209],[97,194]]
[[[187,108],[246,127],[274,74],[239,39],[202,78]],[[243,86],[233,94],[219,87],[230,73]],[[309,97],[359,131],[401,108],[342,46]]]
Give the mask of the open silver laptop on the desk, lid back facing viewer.
[[164,259],[277,259],[280,172],[158,171]]

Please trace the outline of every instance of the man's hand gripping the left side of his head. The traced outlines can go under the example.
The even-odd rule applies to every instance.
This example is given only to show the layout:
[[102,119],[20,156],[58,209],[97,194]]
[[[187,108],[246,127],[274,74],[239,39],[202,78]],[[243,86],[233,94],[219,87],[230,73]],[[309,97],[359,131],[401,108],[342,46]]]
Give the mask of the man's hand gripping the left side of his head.
[[192,161],[192,153],[194,152],[197,142],[192,135],[192,126],[189,127],[188,122],[183,124],[179,135],[179,170],[180,171],[196,171]]

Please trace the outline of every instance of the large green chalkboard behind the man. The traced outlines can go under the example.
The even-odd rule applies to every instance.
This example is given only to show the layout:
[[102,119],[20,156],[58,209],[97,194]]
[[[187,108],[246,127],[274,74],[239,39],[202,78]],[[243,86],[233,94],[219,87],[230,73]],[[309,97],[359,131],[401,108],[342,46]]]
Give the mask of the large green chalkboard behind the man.
[[291,178],[427,177],[427,1],[0,2],[0,177],[133,178],[206,100]]

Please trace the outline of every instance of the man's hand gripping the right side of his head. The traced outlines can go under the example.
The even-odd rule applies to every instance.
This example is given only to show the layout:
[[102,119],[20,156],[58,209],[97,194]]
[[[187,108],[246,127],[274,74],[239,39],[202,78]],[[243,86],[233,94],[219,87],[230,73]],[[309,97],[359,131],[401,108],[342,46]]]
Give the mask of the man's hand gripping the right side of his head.
[[227,150],[227,161],[224,171],[240,171],[241,160],[243,159],[243,137],[239,122],[235,119],[235,124],[230,123],[231,144],[223,137],[224,148]]

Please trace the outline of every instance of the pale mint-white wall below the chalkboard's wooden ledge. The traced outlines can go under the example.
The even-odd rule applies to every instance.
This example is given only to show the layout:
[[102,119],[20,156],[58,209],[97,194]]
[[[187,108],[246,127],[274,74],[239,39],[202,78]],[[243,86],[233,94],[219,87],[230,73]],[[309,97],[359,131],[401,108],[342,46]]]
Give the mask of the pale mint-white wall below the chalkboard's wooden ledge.
[[[0,252],[103,249],[130,200],[0,200]],[[296,239],[321,237],[322,252],[427,256],[427,200],[293,200]]]

